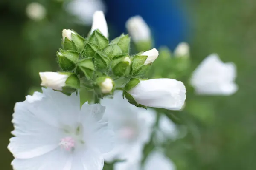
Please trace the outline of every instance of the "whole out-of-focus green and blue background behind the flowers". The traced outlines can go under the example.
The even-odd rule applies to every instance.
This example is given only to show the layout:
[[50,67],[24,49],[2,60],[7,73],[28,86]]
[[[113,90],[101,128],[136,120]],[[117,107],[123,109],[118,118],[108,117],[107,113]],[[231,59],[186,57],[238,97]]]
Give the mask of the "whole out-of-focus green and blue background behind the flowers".
[[15,102],[40,89],[39,71],[58,71],[62,29],[86,36],[95,10],[105,11],[111,38],[140,14],[157,47],[189,42],[194,68],[210,53],[234,62],[239,91],[190,97],[186,124],[194,137],[168,153],[178,170],[256,169],[256,1],[0,0],[0,170],[12,169],[6,147]]

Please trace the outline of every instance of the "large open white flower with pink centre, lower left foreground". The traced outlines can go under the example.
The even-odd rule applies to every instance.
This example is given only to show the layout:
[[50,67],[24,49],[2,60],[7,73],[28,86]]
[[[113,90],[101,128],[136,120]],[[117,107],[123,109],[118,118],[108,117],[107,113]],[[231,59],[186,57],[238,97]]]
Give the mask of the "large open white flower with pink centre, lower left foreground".
[[12,122],[15,137],[8,149],[15,170],[102,170],[103,153],[112,149],[112,131],[102,120],[105,107],[79,96],[44,89],[17,102]]

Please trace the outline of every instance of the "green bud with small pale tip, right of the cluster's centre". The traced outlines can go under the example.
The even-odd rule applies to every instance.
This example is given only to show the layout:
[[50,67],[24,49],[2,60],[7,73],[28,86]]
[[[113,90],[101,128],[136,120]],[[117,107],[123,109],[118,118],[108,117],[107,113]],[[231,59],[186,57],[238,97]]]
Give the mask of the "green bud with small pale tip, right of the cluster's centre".
[[115,57],[111,64],[113,74],[119,77],[127,74],[130,64],[131,59],[127,56]]

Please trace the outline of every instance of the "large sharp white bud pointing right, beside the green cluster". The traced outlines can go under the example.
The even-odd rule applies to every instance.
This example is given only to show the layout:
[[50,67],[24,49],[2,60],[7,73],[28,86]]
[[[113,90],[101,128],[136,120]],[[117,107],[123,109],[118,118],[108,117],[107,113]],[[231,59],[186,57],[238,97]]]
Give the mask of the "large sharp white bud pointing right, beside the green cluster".
[[186,88],[175,79],[142,80],[128,91],[141,105],[180,110],[186,99]]

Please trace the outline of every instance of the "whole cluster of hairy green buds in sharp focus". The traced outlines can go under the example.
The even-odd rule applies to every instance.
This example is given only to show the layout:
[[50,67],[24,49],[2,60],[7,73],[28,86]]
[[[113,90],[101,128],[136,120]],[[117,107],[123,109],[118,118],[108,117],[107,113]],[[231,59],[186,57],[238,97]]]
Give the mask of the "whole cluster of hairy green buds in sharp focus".
[[58,65],[62,72],[79,78],[80,85],[75,87],[92,90],[100,98],[113,94],[114,88],[124,90],[123,85],[141,77],[151,65],[144,65],[148,56],[142,53],[129,55],[131,38],[128,35],[109,41],[99,30],[86,38],[69,31],[71,38],[64,37],[62,48],[57,52]]

